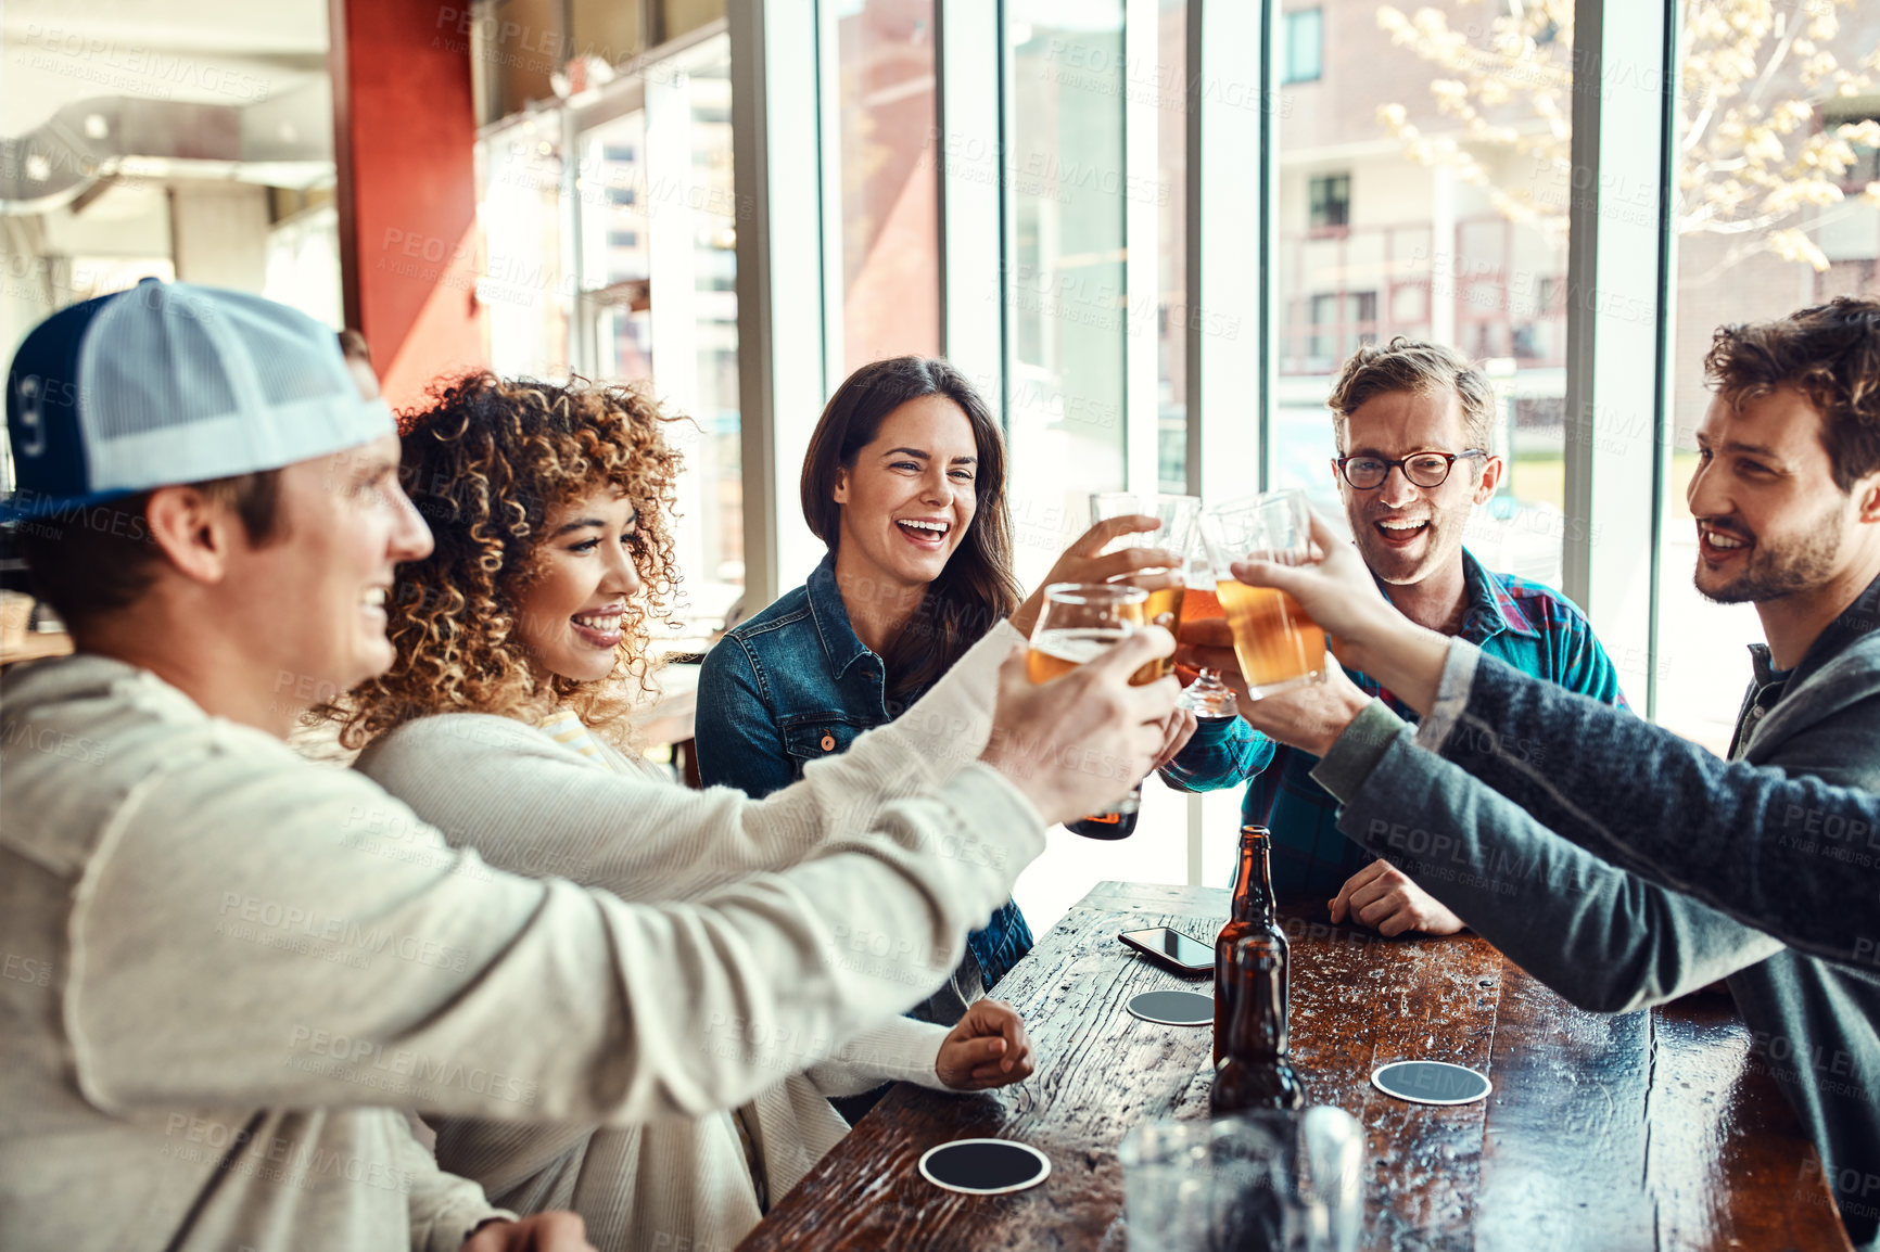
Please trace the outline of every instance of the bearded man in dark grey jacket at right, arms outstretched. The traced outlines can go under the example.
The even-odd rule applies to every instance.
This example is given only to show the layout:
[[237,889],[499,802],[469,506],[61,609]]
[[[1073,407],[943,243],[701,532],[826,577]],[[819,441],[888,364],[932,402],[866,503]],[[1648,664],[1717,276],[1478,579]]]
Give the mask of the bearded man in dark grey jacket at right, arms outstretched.
[[1293,590],[1367,667],[1384,658],[1372,673],[1429,716],[1412,735],[1339,686],[1250,716],[1325,748],[1314,778],[1346,837],[1583,1008],[1726,978],[1865,1248],[1880,1243],[1880,910],[1863,889],[1880,859],[1880,305],[1724,327],[1707,368],[1696,583],[1756,603],[1769,639],[1735,765],[1391,622],[1333,549],[1299,579],[1246,573]]

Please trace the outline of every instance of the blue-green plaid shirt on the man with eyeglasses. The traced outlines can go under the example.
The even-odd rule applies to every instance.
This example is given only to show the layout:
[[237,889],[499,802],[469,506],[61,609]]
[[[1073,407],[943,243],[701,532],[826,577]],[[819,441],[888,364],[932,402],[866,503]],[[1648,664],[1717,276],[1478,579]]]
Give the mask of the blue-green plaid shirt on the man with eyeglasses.
[[[1378,588],[1389,600],[1389,587],[1378,583]],[[1468,598],[1457,632],[1463,639],[1523,673],[1626,707],[1613,662],[1564,596],[1540,583],[1491,573],[1468,549],[1463,549],[1463,594]],[[1371,675],[1346,673],[1369,696],[1384,697],[1397,716],[1418,720]],[[1339,895],[1344,880],[1374,859],[1339,833],[1339,801],[1312,782],[1314,765],[1318,758],[1310,752],[1277,744],[1245,720],[1230,718],[1203,722],[1162,778],[1183,791],[1214,791],[1252,780],[1241,822],[1273,829],[1273,891],[1280,902],[1308,902]]]

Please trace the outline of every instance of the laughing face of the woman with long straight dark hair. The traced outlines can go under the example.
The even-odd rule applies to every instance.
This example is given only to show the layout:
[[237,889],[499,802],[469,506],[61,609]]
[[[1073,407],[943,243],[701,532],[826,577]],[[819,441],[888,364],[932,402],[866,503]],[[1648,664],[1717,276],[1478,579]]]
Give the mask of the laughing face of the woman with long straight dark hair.
[[916,592],[940,577],[978,511],[978,474],[979,447],[959,404],[923,395],[887,414],[835,483],[844,598],[865,585]]

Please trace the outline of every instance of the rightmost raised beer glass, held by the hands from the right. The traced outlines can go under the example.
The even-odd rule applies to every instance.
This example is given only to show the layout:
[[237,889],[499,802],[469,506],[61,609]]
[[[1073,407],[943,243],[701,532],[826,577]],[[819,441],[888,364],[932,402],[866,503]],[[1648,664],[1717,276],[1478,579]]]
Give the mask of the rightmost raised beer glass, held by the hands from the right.
[[1203,517],[1201,538],[1214,566],[1214,592],[1233,630],[1246,694],[1260,699],[1301,682],[1324,682],[1325,632],[1286,592],[1248,587],[1230,571],[1235,560],[1288,566],[1312,560],[1305,493],[1269,491],[1248,504],[1213,509]]

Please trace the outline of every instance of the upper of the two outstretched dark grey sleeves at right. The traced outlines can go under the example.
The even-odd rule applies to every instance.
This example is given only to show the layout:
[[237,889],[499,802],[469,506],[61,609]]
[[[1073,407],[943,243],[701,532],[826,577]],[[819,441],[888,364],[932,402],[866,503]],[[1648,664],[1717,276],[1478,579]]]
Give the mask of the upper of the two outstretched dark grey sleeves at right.
[[[1724,761],[1493,656],[1474,665],[1468,701],[1442,741],[1446,759],[1641,878],[1797,951],[1880,964],[1880,795],[1824,780],[1833,761],[1803,761],[1807,743],[1784,744],[1773,765]],[[1797,739],[1839,741],[1842,765],[1876,759],[1871,699],[1880,696]],[[1794,776],[1803,767],[1810,776]]]

